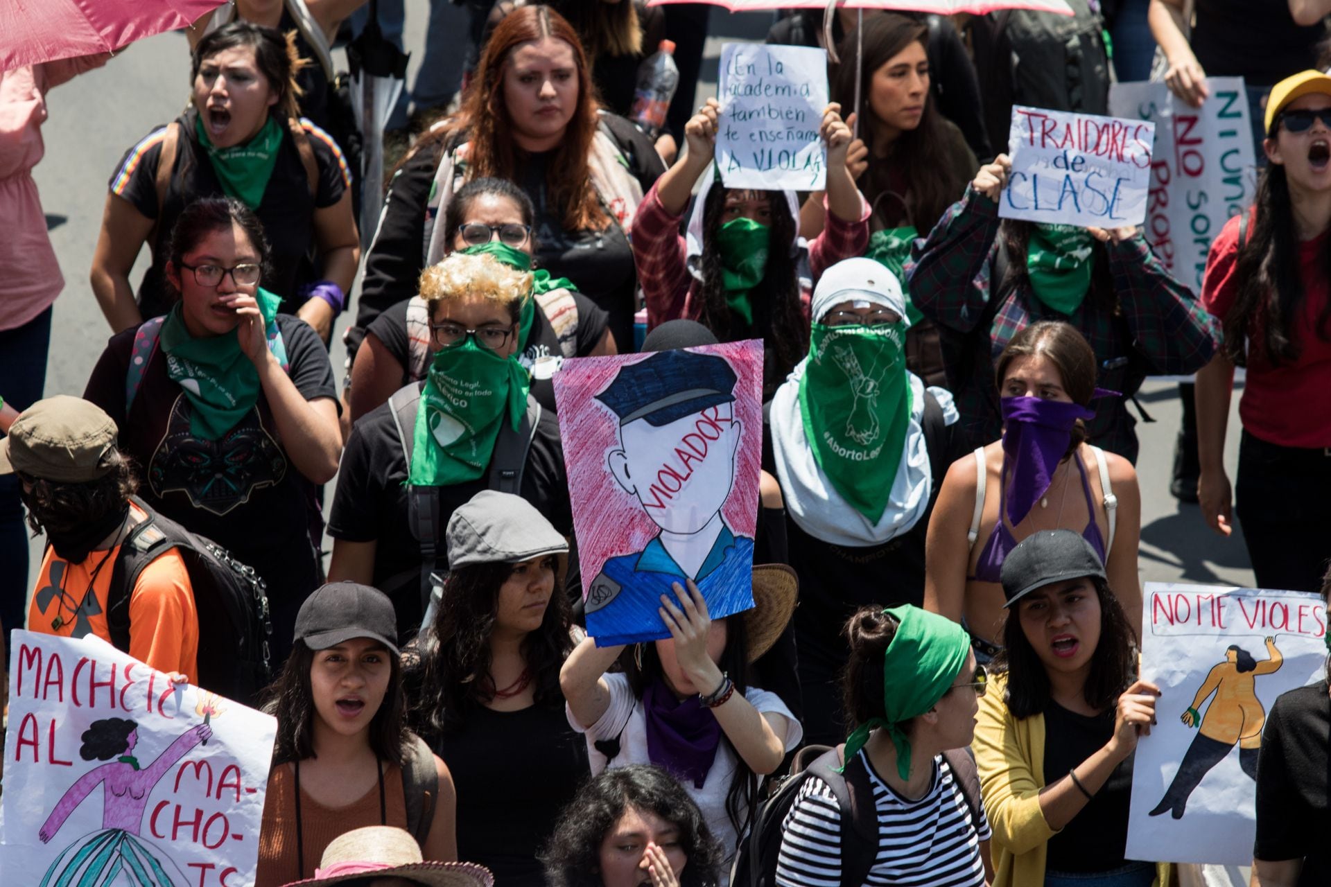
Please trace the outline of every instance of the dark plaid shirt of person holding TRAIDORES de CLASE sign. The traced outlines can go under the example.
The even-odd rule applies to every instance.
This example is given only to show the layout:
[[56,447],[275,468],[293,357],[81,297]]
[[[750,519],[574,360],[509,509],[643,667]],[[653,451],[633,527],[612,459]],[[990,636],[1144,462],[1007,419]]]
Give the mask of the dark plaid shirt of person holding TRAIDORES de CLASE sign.
[[[1070,315],[1054,313],[1036,298],[1025,275],[1017,277],[1002,302],[986,311],[997,234],[998,205],[968,186],[965,197],[948,209],[928,239],[914,242],[905,270],[916,307],[965,336],[970,378],[953,380],[964,442],[981,447],[1002,434],[993,374],[1012,338],[1036,320],[1067,320],[1095,351],[1095,383],[1123,394],[1095,402],[1095,418],[1087,423],[1090,438],[1135,463],[1137,420],[1127,412],[1127,398],[1147,374],[1189,374],[1206,366],[1217,348],[1215,320],[1191,290],[1170,277],[1141,233],[1105,245],[1118,295],[1114,314],[1089,302]],[[981,328],[985,318],[992,322]]]

